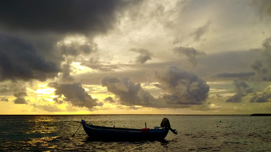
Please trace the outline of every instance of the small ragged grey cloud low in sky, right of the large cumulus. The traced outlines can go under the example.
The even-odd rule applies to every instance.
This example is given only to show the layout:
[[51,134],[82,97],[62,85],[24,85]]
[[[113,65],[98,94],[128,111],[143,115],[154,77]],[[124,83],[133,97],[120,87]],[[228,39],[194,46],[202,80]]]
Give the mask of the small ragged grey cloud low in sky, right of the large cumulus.
[[253,93],[253,88],[250,88],[245,81],[239,81],[239,79],[234,79],[232,83],[235,87],[236,94],[229,97],[226,102],[242,102],[242,97],[247,96],[249,93]]

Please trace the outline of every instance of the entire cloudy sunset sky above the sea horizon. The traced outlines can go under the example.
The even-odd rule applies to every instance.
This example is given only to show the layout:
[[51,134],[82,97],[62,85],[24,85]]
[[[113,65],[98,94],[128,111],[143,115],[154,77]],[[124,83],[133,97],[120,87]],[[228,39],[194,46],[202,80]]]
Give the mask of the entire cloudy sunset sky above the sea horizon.
[[1,1],[0,115],[271,113],[271,1]]

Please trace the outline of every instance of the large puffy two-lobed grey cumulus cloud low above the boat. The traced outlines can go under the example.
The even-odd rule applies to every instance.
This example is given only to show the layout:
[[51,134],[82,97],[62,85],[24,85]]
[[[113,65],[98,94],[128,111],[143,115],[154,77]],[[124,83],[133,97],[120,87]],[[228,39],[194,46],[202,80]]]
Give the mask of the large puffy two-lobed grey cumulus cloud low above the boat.
[[121,104],[132,106],[184,108],[193,104],[202,104],[209,91],[209,86],[197,75],[170,66],[165,71],[155,72],[159,84],[163,89],[162,97],[155,98],[145,91],[140,83],[134,84],[127,77],[105,77],[101,80],[103,87],[115,94]]

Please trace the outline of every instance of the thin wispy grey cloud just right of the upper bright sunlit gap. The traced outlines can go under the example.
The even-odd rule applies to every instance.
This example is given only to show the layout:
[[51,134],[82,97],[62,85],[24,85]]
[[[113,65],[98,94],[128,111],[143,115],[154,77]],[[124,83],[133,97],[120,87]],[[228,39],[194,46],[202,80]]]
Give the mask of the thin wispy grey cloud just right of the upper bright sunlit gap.
[[119,65],[105,65],[102,62],[99,61],[99,58],[91,58],[89,60],[83,60],[81,61],[82,66],[87,66],[89,68],[92,68],[94,70],[99,70],[103,72],[108,72],[108,71],[114,71],[115,69],[119,69]]

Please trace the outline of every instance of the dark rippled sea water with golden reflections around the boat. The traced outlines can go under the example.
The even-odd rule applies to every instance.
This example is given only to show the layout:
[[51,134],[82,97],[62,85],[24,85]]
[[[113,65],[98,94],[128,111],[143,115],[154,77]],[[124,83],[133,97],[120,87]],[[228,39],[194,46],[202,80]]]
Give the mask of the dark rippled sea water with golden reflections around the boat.
[[[80,127],[154,128],[168,118],[164,141],[94,141]],[[0,116],[0,151],[271,151],[271,117],[248,115]]]

